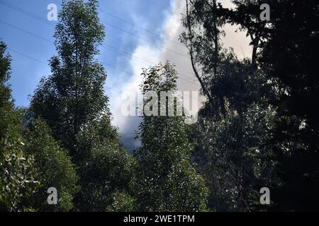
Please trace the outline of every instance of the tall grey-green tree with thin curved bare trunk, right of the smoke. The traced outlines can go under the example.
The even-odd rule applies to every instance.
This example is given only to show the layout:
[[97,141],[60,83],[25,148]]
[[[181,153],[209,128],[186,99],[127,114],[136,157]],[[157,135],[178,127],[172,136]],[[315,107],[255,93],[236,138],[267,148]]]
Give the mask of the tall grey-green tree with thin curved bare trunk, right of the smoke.
[[[208,179],[210,207],[223,211],[263,209],[255,206],[259,189],[272,186],[274,179],[272,153],[264,148],[274,114],[267,101],[273,95],[272,87],[264,71],[256,67],[257,53],[252,60],[239,60],[233,49],[220,43],[220,36],[227,35],[223,25],[234,23],[234,18],[230,20],[233,11],[216,1],[186,2],[186,32],[181,41],[189,47],[194,73],[207,97],[194,126],[194,162]],[[250,23],[242,24],[242,29],[248,27],[250,30]]]

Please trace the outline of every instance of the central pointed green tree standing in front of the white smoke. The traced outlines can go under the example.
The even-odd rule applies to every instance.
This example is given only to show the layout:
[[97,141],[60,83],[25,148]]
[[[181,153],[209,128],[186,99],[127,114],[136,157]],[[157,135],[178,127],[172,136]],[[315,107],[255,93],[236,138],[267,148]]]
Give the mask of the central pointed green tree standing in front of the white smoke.
[[[169,63],[145,69],[141,85],[146,95],[144,105],[150,102],[148,92],[177,90],[177,72]],[[153,100],[154,101],[154,100]],[[165,97],[164,105],[171,102]],[[176,111],[176,109],[175,109]],[[190,165],[192,145],[187,139],[184,116],[147,116],[143,114],[138,137],[142,146],[135,151],[139,164],[134,183],[138,210],[201,211],[206,210],[208,191],[204,179]]]

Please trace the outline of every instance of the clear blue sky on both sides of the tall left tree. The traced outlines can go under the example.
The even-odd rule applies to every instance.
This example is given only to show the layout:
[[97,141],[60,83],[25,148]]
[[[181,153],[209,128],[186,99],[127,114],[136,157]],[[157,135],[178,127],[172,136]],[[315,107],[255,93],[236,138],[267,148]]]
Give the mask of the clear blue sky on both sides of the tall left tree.
[[[48,13],[47,5],[57,4],[59,10],[59,1],[0,1],[0,38],[8,45],[12,57],[9,83],[17,106],[28,106],[28,95],[33,93],[42,76],[50,74],[47,60],[55,54],[55,47],[46,40],[53,42],[52,35],[56,22],[47,20],[45,23],[45,20]],[[170,13],[170,4],[169,0],[100,1],[99,15],[101,22],[106,26],[106,40],[100,48],[99,59],[108,73],[107,93],[108,89],[112,89],[113,93],[118,91],[121,81],[128,81],[129,77],[133,76],[130,57],[138,44],[162,44],[162,37],[155,34],[162,32],[162,24]],[[34,15],[43,18],[44,21],[38,17],[34,18]],[[145,62],[144,59],[147,59],[147,56],[135,60]]]

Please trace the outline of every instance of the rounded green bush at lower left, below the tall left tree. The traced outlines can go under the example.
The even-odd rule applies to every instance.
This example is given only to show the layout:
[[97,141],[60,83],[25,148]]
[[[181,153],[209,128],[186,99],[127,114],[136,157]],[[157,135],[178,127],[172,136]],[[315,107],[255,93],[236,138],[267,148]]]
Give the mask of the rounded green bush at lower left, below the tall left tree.
[[[40,189],[33,195],[30,206],[40,211],[72,210],[72,199],[79,190],[77,174],[67,150],[52,138],[50,128],[40,119],[34,119],[25,131],[26,152],[34,156],[34,167],[39,172]],[[57,205],[47,204],[47,189],[55,187]]]

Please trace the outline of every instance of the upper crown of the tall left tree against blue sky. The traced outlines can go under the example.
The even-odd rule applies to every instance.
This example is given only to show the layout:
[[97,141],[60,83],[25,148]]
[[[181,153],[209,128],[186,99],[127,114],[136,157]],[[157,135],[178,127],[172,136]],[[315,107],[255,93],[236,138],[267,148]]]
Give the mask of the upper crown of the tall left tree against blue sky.
[[64,1],[54,35],[59,56],[50,59],[52,74],[40,81],[30,104],[34,117],[45,120],[72,157],[77,133],[109,114],[106,73],[96,61],[104,37],[97,6],[96,0]]

